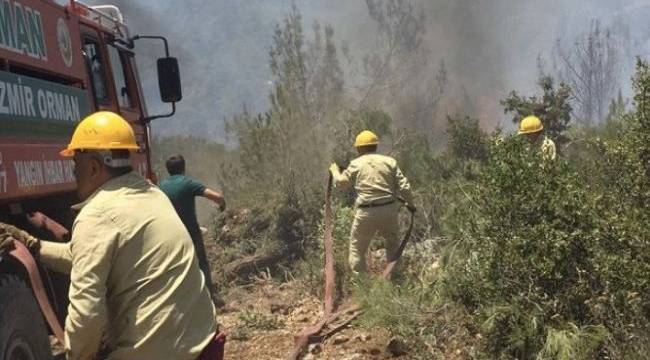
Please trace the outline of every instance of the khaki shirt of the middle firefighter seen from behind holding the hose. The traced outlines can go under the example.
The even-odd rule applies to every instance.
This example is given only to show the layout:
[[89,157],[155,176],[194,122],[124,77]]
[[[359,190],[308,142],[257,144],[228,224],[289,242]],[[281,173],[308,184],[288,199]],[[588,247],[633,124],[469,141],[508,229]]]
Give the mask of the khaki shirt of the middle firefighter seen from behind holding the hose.
[[342,173],[332,175],[336,187],[354,185],[357,206],[387,203],[398,196],[413,204],[411,185],[392,157],[375,153],[361,155]]

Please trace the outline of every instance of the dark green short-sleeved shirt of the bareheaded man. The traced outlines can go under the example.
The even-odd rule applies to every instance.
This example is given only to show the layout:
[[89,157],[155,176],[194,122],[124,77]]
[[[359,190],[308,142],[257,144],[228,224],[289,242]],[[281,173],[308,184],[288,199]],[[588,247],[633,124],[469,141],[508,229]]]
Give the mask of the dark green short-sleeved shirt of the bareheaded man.
[[203,195],[205,186],[185,175],[172,175],[160,182],[160,190],[171,200],[187,231],[193,237],[200,234],[194,197]]

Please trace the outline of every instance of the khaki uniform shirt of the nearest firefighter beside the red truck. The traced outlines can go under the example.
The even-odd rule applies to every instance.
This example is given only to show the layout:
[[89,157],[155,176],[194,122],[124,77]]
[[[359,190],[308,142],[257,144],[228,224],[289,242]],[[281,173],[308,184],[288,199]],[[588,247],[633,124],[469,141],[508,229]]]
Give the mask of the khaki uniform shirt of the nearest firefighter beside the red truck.
[[214,337],[215,309],[192,240],[167,197],[134,173],[80,204],[69,243],[43,242],[46,266],[70,272],[68,359],[194,360]]

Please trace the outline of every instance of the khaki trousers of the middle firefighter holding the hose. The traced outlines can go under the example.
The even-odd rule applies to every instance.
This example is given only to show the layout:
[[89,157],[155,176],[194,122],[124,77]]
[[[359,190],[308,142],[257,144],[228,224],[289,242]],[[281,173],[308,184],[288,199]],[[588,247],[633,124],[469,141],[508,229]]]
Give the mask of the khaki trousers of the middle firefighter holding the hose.
[[399,202],[392,204],[358,208],[354,215],[350,232],[350,268],[354,275],[367,271],[366,255],[370,241],[375,235],[384,239],[386,259],[394,259],[399,248]]

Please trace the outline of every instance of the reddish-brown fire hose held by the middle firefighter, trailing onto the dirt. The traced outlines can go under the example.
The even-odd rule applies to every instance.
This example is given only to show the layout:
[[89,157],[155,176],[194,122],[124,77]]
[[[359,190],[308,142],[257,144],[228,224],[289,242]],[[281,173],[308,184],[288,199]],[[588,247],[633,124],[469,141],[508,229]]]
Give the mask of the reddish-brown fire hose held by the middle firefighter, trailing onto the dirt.
[[[296,336],[294,336],[294,346],[291,353],[287,357],[289,360],[297,360],[303,352],[303,349],[310,343],[310,341],[322,341],[331,336],[335,332],[346,327],[350,322],[356,319],[363,310],[361,307],[354,303],[349,303],[347,306],[342,306],[334,312],[334,240],[332,238],[332,174],[329,174],[327,180],[327,190],[325,192],[325,219],[324,219],[324,232],[323,244],[325,250],[325,295],[323,301],[323,316],[314,325],[302,329]],[[402,199],[399,199],[403,202]],[[409,227],[400,242],[394,259],[391,259],[381,273],[382,279],[388,279],[397,264],[397,261],[402,256],[406,243],[411,237],[413,231],[413,220],[415,212],[409,209],[411,218]],[[346,315],[345,318],[340,320],[336,325],[327,332],[327,334],[320,335],[321,331],[326,325],[334,323],[339,317]],[[320,335],[320,336],[319,336]]]

